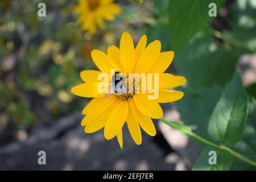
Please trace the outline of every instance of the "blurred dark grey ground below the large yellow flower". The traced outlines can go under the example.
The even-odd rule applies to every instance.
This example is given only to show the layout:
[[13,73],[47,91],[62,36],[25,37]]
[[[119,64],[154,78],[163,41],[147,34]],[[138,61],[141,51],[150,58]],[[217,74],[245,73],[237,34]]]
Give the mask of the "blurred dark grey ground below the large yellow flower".
[[[159,132],[155,138],[143,134],[141,146],[134,144],[125,132],[121,150],[117,140],[107,142],[102,131],[84,134],[80,119],[81,114],[71,114],[24,142],[0,148],[0,170],[187,169],[181,156],[164,143]],[[46,151],[46,165],[38,164],[40,150]]]

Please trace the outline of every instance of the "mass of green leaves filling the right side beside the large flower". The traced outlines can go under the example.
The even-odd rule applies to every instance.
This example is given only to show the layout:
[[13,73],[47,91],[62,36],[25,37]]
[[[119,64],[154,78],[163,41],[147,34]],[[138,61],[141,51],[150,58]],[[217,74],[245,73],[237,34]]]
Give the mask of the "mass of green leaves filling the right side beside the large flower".
[[[208,16],[210,2],[217,12],[222,8],[217,17]],[[155,0],[154,7],[158,20],[147,29],[148,36],[160,39],[164,50],[175,51],[175,70],[187,78],[179,89],[184,98],[176,102],[181,120],[196,127],[193,132],[201,137],[228,144],[255,161],[255,84],[246,93],[240,75],[234,76],[240,56],[256,52],[255,1]],[[218,151],[220,166],[209,167],[208,151],[203,150],[193,169],[255,169],[237,158],[232,162],[227,151]]]

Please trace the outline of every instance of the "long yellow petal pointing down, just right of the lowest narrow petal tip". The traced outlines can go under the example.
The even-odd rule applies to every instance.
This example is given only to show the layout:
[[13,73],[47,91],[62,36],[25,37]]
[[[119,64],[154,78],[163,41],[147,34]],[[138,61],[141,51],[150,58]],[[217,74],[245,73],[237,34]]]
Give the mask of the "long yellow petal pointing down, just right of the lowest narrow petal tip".
[[126,123],[130,131],[131,138],[133,138],[136,144],[141,144],[142,142],[141,128],[139,127],[139,123],[131,107],[131,103],[129,103],[129,112],[127,115]]

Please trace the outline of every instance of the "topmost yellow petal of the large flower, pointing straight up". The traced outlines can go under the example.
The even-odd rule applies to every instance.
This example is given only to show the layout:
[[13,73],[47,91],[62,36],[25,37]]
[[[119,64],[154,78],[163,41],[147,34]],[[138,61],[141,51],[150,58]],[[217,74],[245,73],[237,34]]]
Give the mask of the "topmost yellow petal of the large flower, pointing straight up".
[[130,73],[135,63],[133,39],[128,32],[123,32],[120,40],[120,61],[124,73]]

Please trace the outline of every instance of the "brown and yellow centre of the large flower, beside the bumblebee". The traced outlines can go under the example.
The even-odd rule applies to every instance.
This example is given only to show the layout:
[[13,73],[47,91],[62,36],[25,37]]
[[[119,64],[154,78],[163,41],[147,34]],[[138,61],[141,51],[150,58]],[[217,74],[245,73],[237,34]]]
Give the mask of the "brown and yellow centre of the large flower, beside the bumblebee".
[[116,96],[122,101],[127,101],[133,98],[133,95],[137,93],[139,89],[139,83],[134,78],[127,78],[123,81],[124,85],[126,85],[126,93],[116,94]]

